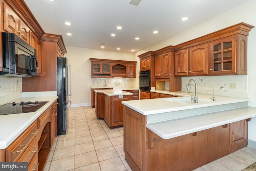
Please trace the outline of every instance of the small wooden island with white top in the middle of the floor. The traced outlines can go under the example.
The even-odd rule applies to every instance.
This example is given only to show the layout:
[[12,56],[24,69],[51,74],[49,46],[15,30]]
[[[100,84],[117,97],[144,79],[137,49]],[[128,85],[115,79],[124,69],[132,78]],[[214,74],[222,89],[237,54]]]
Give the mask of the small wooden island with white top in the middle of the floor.
[[132,93],[119,89],[94,91],[96,116],[103,118],[109,127],[122,126],[124,123],[122,101],[132,100]]

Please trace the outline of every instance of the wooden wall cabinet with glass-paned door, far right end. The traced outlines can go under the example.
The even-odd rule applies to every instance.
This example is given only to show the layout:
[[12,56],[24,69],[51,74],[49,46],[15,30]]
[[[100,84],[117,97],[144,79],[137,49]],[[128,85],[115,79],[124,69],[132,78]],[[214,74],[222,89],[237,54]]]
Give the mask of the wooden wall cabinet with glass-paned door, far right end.
[[247,74],[247,36],[234,35],[210,43],[211,75]]

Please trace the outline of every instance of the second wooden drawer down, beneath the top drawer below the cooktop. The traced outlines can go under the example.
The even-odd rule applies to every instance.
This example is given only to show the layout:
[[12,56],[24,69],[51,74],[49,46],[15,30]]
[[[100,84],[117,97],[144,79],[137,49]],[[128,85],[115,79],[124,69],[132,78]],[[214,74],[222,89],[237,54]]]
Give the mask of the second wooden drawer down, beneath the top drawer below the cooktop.
[[18,162],[28,162],[28,165],[30,164],[30,161],[32,160],[34,154],[38,153],[38,141],[37,137],[35,137],[28,146],[28,149],[23,153],[23,155],[18,159]]

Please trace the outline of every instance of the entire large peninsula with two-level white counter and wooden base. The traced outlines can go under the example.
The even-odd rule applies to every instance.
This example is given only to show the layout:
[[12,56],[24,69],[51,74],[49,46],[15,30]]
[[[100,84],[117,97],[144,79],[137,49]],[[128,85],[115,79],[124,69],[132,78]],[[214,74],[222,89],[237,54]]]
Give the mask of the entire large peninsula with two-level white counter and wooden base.
[[140,171],[196,169],[247,145],[250,99],[198,94],[123,101],[124,153]]

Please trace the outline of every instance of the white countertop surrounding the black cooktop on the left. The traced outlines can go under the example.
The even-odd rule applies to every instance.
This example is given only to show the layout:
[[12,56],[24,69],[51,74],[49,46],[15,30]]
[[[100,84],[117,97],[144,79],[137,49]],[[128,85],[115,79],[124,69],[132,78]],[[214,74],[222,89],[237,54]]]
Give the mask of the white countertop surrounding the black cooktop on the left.
[[[52,103],[58,99],[58,96],[46,97],[22,97],[13,101],[49,101],[36,112],[17,113],[10,115],[0,115],[0,149],[8,147],[29,125],[31,125]],[[13,102],[11,101],[11,102]]]

